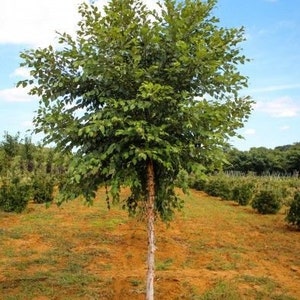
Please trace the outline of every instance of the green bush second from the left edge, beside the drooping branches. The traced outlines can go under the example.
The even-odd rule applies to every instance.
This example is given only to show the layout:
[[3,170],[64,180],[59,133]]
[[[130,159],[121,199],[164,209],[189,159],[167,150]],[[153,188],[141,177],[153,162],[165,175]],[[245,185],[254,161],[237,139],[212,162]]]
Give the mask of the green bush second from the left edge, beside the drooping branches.
[[50,176],[35,175],[32,182],[34,203],[47,203],[53,200],[54,183]]

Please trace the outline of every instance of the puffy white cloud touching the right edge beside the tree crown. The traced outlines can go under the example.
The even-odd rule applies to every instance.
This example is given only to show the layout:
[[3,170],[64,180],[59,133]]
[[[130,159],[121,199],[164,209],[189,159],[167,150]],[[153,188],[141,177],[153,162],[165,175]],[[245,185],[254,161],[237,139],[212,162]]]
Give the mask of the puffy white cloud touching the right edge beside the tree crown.
[[295,103],[290,97],[281,97],[269,102],[257,102],[254,108],[276,118],[296,117],[300,114],[300,103]]

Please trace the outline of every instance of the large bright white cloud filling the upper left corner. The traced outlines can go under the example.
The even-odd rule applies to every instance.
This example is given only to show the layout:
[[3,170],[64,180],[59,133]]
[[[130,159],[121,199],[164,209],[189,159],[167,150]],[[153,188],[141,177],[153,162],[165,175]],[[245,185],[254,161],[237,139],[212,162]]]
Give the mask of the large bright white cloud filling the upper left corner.
[[[88,0],[1,0],[0,44],[53,44],[56,31],[74,34],[80,20],[78,6]],[[102,7],[108,0],[95,3]],[[150,9],[157,9],[156,1],[145,0]]]

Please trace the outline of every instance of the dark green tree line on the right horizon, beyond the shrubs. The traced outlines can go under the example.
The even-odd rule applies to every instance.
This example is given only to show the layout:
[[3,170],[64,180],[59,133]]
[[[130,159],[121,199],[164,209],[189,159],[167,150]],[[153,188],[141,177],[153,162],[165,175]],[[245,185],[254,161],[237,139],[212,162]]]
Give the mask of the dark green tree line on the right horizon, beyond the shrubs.
[[225,171],[254,173],[258,176],[268,174],[299,176],[300,173],[300,142],[274,149],[257,147],[240,151],[228,148],[226,152],[229,163],[224,166]]

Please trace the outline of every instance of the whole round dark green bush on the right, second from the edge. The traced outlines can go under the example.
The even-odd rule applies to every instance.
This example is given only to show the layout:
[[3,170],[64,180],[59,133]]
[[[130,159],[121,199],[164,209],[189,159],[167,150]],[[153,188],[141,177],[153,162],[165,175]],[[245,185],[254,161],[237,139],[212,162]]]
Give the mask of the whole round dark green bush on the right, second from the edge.
[[261,190],[253,199],[252,207],[260,214],[276,214],[282,206],[276,191]]

